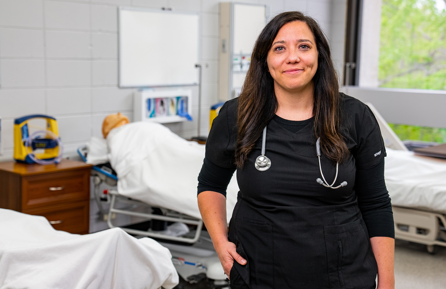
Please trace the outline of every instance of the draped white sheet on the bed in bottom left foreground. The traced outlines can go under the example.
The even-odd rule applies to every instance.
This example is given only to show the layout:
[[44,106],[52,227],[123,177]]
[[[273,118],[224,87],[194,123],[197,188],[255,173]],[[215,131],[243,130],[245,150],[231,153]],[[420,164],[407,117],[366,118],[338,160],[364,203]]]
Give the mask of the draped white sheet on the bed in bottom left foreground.
[[0,209],[0,288],[166,289],[178,284],[167,248],[120,228],[56,231],[45,217]]

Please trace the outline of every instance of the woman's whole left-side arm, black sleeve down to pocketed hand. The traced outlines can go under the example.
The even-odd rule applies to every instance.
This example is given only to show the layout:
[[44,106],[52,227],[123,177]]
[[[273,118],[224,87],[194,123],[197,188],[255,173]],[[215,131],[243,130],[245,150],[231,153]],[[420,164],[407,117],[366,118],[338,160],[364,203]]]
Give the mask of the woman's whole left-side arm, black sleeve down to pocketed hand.
[[226,189],[236,169],[236,122],[237,101],[233,99],[222,106],[212,122],[198,175],[198,208],[228,278],[234,260],[241,265],[247,263],[235,252],[235,244],[227,239]]

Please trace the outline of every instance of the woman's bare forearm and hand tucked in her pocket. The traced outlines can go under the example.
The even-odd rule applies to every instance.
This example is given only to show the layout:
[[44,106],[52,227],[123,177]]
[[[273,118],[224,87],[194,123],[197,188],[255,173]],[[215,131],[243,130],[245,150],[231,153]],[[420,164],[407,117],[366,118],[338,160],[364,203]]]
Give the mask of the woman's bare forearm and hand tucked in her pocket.
[[234,260],[241,265],[245,265],[246,260],[235,252],[235,244],[227,240],[226,198],[216,191],[202,191],[198,194],[198,208],[224,273],[229,278]]

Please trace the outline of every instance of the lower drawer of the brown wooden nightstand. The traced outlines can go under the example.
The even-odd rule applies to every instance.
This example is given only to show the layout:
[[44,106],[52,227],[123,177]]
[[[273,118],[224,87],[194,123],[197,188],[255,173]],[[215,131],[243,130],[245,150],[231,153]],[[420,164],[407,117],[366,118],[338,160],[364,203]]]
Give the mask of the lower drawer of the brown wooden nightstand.
[[56,230],[88,234],[89,201],[24,210],[29,215],[44,216]]

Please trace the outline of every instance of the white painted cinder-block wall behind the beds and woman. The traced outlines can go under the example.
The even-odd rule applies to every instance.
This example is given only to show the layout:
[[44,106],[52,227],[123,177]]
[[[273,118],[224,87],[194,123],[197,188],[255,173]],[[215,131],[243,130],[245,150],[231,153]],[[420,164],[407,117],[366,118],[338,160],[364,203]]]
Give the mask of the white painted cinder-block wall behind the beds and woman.
[[[134,90],[117,86],[119,5],[170,7],[177,11],[200,12],[200,61],[203,64],[201,134],[207,134],[209,107],[217,102],[218,2],[0,0],[0,116],[3,147],[0,159],[12,158],[12,122],[14,118],[25,114],[43,113],[56,117],[68,155],[75,154],[76,147],[87,142],[92,135],[101,136],[102,121],[107,114],[120,111],[132,119]],[[314,16],[334,44],[335,63],[342,67],[345,0],[238,2],[268,4],[273,15],[300,10]],[[337,5],[344,6],[340,8]],[[332,27],[334,31],[330,30]],[[196,120],[198,88],[192,87],[192,90],[195,96],[193,117]],[[167,126],[185,138],[196,135],[196,121]]]

